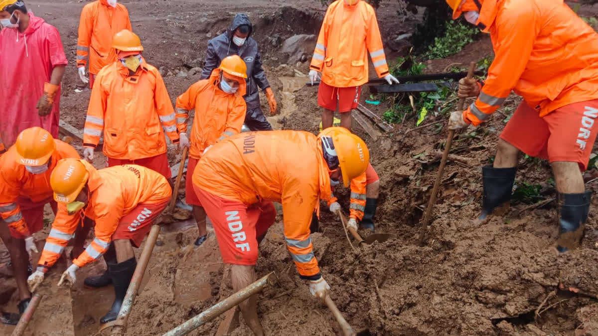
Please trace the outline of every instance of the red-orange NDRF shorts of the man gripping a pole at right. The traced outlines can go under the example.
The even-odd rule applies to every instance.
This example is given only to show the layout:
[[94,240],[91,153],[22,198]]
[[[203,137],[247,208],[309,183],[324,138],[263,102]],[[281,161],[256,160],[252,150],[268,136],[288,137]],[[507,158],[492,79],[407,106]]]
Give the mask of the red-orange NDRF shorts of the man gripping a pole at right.
[[521,102],[501,133],[501,139],[532,157],[570,161],[587,169],[596,132],[598,99],[573,103],[544,117]]

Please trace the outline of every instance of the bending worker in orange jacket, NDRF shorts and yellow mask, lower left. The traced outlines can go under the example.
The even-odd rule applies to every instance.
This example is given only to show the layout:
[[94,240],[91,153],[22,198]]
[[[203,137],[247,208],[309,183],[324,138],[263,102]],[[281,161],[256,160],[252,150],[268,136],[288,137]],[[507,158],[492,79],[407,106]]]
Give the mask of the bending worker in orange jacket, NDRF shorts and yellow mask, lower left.
[[139,248],[152,222],[170,201],[172,189],[160,173],[136,164],[96,170],[85,160],[61,160],[50,184],[59,203],[52,224],[54,236],[48,237],[37,270],[28,279],[31,291],[44,280],[47,272],[75,231],[84,214],[96,221],[96,237],[73,260],[58,285],[72,286],[75,271],[105,254],[108,272],[114,283],[112,308],[101,323],[115,320],[137,265],[133,246]]

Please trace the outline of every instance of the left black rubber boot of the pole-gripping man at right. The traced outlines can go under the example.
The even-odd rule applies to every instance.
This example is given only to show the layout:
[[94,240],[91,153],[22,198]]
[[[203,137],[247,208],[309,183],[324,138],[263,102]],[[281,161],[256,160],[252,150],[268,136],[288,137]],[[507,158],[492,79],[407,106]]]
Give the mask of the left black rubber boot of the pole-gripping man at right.
[[482,212],[478,219],[486,219],[496,207],[511,200],[513,184],[515,184],[515,173],[517,173],[517,167],[482,167],[484,200],[482,201]]

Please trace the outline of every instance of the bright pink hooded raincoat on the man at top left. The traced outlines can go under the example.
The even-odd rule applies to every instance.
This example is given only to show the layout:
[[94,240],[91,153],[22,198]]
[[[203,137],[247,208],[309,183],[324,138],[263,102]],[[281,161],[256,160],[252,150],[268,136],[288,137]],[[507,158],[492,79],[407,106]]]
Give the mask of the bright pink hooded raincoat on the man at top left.
[[54,67],[66,65],[65,51],[58,29],[33,13],[29,17],[25,33],[16,28],[0,31],[0,138],[7,148],[33,126],[58,137],[60,90],[49,115],[39,117],[35,106]]

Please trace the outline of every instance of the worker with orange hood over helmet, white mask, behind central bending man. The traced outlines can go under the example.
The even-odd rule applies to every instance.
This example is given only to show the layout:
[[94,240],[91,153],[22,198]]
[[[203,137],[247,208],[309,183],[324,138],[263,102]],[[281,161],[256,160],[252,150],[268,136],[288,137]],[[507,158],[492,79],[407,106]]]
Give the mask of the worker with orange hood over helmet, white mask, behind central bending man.
[[[206,241],[206,211],[193,191],[191,182],[193,170],[203,152],[219,140],[241,132],[245,120],[246,103],[245,78],[247,67],[241,57],[227,56],[222,59],[219,68],[212,71],[207,80],[191,85],[176,99],[176,124],[181,142],[181,149],[189,147],[189,163],[185,182],[187,204],[193,206],[199,237],[195,241],[200,246]],[[195,109],[191,140],[187,137],[189,111]]]

